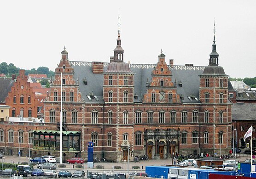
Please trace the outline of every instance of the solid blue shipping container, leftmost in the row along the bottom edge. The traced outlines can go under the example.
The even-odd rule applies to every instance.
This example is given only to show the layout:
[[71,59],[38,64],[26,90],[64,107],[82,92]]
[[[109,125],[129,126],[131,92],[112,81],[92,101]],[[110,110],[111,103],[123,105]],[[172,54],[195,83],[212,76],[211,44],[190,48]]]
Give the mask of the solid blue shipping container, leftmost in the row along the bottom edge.
[[165,167],[165,166],[146,166],[145,172],[149,177],[168,179],[169,168],[177,167]]

